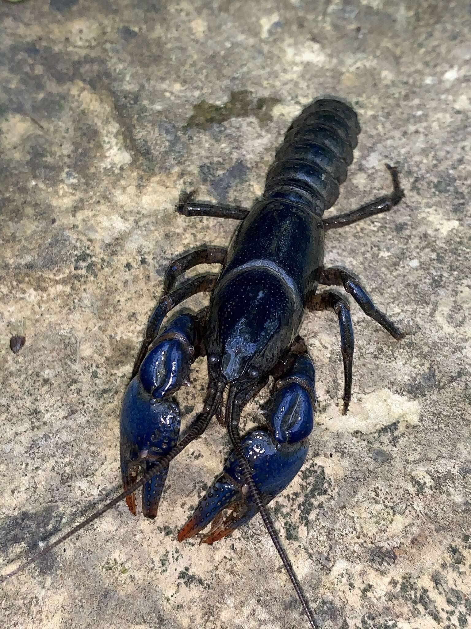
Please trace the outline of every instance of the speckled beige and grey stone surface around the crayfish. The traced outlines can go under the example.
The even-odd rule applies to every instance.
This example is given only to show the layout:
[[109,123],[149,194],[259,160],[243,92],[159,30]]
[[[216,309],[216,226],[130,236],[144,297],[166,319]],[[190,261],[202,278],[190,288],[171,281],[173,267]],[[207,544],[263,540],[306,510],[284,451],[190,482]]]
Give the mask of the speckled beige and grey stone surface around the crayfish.
[[[3,572],[116,491],[119,405],[165,266],[236,225],[178,216],[179,194],[249,206],[291,120],[337,94],[362,133],[329,215],[389,191],[386,161],[406,199],[328,233],[325,262],[408,336],[352,304],[345,418],[337,320],[306,315],[316,426],[271,511],[322,629],[471,626],[470,33],[465,0],[0,3]],[[205,374],[200,359],[185,425]],[[214,547],[176,541],[228,450],[212,423],[156,521],[120,504],[2,584],[1,626],[306,626],[259,518]]]

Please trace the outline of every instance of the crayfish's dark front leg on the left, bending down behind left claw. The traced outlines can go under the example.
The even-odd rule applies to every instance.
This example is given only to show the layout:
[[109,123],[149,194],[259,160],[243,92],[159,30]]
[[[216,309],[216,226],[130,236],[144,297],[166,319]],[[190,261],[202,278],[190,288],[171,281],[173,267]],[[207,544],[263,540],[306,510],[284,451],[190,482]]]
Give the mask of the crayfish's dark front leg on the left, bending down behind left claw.
[[170,311],[175,308],[175,306],[181,304],[182,301],[188,299],[188,297],[197,294],[197,292],[212,291],[216,279],[217,275],[215,275],[214,273],[207,273],[202,276],[194,277],[189,282],[187,282],[187,284],[183,284],[183,286],[178,287],[177,289],[175,289],[175,291],[171,291],[168,295],[163,296],[149,318],[149,323],[146,330],[146,337],[143,340],[141,349],[138,353],[138,357],[134,362],[133,375],[131,376],[131,379],[133,379],[134,376],[136,376],[136,374],[138,373],[141,362],[143,362],[149,345],[156,337],[165,315],[170,313]]

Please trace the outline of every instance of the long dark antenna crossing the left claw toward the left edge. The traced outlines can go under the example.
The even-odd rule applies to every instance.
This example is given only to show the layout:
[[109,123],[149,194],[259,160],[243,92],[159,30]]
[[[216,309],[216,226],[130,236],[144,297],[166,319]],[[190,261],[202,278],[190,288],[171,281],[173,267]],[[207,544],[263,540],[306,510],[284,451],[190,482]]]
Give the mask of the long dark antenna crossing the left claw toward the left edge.
[[14,569],[11,572],[7,572],[6,574],[1,575],[0,583],[3,583],[4,581],[11,579],[11,577],[14,577],[16,574],[19,574],[19,572],[23,572],[23,570],[28,568],[30,565],[35,564],[36,561],[38,561],[38,559],[41,559],[41,557],[44,557],[45,555],[50,553],[51,550],[53,550],[54,548],[56,548],[57,546],[65,542],[66,540],[68,540],[68,538],[73,537],[73,535],[80,532],[82,529],[85,528],[85,526],[88,526],[89,524],[91,524],[92,522],[100,518],[100,516],[102,516],[104,513],[112,509],[116,504],[120,503],[122,500],[124,500],[124,498],[127,498],[127,496],[131,496],[131,494],[137,491],[139,487],[142,487],[153,476],[155,476],[156,474],[161,472],[163,469],[168,467],[171,461],[173,461],[173,459],[175,459],[175,457],[178,454],[180,454],[180,452],[184,450],[188,444],[194,441],[197,437],[200,437],[200,435],[202,435],[203,432],[206,430],[209,422],[214,417],[215,412],[217,411],[217,408],[220,406],[223,390],[224,390],[224,385],[219,384],[216,391],[213,392],[212,395],[208,394],[203,413],[200,413],[197,416],[197,420],[193,423],[190,430],[188,430],[185,437],[183,437],[183,439],[180,442],[178,442],[175,445],[175,447],[172,448],[170,452],[168,452],[168,454],[165,455],[165,457],[162,457],[158,461],[158,463],[154,465],[154,467],[148,470],[148,472],[146,472],[139,479],[139,481],[136,481],[133,485],[130,485],[129,487],[127,487],[127,489],[122,491],[120,494],[118,494],[115,498],[110,500],[108,503],[104,504],[100,509],[97,509],[97,511],[92,513],[92,515],[90,515],[88,518],[85,518],[84,521],[74,526],[70,531],[62,535],[60,538],[58,538],[58,540],[46,546],[45,548],[43,548],[43,550],[40,550],[39,552],[37,552],[35,555],[33,555],[33,557],[28,559],[28,561],[24,562],[24,564],[19,565],[18,568]]

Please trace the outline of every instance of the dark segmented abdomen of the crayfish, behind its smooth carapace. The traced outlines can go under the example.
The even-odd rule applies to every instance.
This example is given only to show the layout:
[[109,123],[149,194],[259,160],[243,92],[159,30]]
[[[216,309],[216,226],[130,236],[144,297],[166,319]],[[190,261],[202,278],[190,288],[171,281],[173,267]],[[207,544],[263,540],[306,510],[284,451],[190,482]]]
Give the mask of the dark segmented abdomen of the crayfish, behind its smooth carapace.
[[349,105],[335,99],[310,104],[284,136],[266,178],[264,199],[309,204],[322,215],[337,201],[359,133],[357,114]]

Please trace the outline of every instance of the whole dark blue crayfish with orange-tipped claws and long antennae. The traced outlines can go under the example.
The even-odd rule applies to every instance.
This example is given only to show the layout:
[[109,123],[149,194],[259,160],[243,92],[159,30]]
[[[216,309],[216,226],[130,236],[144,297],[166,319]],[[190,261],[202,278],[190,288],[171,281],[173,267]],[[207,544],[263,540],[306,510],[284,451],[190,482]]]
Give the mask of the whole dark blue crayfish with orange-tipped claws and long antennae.
[[[155,518],[171,460],[217,417],[227,428],[234,450],[181,528],[178,540],[210,526],[202,542],[213,543],[260,513],[310,625],[317,626],[266,509],[301,469],[313,430],[315,369],[298,330],[306,310],[331,310],[337,315],[345,374],[344,413],[351,398],[354,355],[349,304],[337,292],[318,294],[318,286],[343,286],[368,316],[394,338],[403,337],[354,276],[323,266],[325,231],[386,212],[404,196],[396,168],[387,166],[393,180],[391,194],[323,219],[347,177],[359,131],[349,105],[337,99],[317,100],[288,129],[268,172],[263,198],[250,211],[196,204],[192,198],[181,201],[178,211],[185,216],[217,216],[241,223],[229,248],[198,248],[170,264],[165,295],[149,319],[122,402],[124,492],[41,554],[122,498],[135,514],[135,492],[141,486],[144,516]],[[222,269],[175,288],[181,274],[202,263],[220,264]],[[196,315],[180,313],[161,331],[173,308],[204,291],[211,293],[208,308]],[[193,361],[204,355],[209,377],[204,408],[179,440],[180,410],[173,396],[188,381]],[[242,409],[270,376],[274,394],[266,421],[241,437]]]

